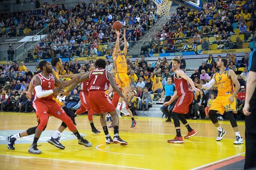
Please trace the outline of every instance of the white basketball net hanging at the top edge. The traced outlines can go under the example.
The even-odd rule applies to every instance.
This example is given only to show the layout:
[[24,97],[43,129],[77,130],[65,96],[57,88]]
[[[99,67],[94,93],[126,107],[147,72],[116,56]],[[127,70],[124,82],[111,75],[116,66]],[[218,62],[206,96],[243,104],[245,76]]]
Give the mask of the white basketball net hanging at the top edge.
[[153,0],[157,5],[157,14],[161,16],[170,16],[172,1],[170,0]]

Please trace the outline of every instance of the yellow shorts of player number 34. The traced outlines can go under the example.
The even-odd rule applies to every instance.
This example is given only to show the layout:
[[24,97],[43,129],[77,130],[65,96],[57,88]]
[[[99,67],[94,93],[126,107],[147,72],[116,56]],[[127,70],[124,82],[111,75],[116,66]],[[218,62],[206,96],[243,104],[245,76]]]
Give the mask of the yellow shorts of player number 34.
[[210,110],[218,111],[218,113],[221,113],[222,115],[225,111],[232,111],[233,113],[237,113],[236,98],[234,98],[233,103],[230,103],[229,97],[231,96],[232,94],[229,94],[227,96],[217,96],[212,103]]

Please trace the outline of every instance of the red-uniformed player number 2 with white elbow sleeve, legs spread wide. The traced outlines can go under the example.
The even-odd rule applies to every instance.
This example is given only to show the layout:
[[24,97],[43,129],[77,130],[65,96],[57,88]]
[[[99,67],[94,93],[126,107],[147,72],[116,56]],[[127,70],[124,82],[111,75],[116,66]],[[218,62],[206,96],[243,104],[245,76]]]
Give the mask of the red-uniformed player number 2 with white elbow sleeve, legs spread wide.
[[56,101],[52,100],[53,93],[59,92],[61,89],[63,89],[54,89],[55,84],[57,86],[61,86],[62,82],[58,80],[54,75],[50,74],[52,73],[52,65],[48,61],[41,61],[39,63],[39,68],[42,70],[42,73],[35,76],[33,81],[35,92],[33,107],[35,109],[39,125],[35,130],[34,141],[28,152],[31,154],[42,153],[42,151],[38,150],[37,148],[37,141],[46,124],[48,123],[48,116],[54,116],[67,124],[69,130],[72,131],[78,138],[78,144],[91,147],[92,144],[80,136],[70,117],[66,115],[65,111],[56,103]]

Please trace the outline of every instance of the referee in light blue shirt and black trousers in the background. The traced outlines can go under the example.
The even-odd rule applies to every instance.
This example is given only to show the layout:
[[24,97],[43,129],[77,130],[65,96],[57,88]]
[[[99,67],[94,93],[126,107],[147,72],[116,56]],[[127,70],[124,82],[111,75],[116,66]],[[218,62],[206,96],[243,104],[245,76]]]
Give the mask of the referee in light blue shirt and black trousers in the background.
[[[160,101],[162,101],[162,98],[163,98],[164,95],[166,96],[164,102],[169,101],[171,99],[171,97],[173,96],[175,90],[176,90],[175,85],[172,84],[172,77],[168,77],[167,78],[167,84],[163,86],[163,92],[162,92],[162,96],[160,98]],[[168,106],[163,105],[160,108],[160,110],[163,112],[163,115],[165,114],[167,116],[166,122],[172,121],[171,115],[170,115],[168,109],[170,109],[172,106],[174,106],[175,103],[176,103],[176,101],[174,101],[172,104],[170,104]]]

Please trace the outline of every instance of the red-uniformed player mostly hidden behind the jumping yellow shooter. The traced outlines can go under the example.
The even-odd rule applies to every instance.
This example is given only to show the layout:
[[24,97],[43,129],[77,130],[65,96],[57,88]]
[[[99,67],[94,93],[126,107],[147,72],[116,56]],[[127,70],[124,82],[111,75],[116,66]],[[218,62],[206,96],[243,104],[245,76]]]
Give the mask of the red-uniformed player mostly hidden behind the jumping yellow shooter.
[[[122,92],[122,88],[118,85],[118,83],[117,83],[117,81],[116,81],[116,78],[114,78],[114,81],[115,81],[117,87],[118,87],[118,88],[120,89],[120,91]],[[130,91],[131,91],[131,87],[130,87],[130,85],[129,85],[128,93],[130,93]],[[110,86],[109,91],[108,91],[108,94],[111,93],[111,92],[113,92],[112,86]],[[113,93],[113,98],[112,98],[112,104],[114,105],[114,107],[117,107],[119,98],[120,98],[120,96],[117,94],[117,92],[114,92],[114,93]],[[120,108],[121,108],[121,106],[120,106]],[[132,119],[131,128],[135,128],[137,122],[134,120],[134,117],[133,117],[133,115],[132,115],[132,112],[131,112],[131,110],[128,108],[127,105],[126,105],[126,109],[127,109],[127,111],[130,113],[129,116],[130,116],[131,119]],[[118,114],[118,116],[120,115],[120,113],[117,113],[117,114]],[[121,117],[121,115],[120,115],[120,117]],[[112,128],[112,127],[113,127],[113,123],[111,123],[111,125],[109,126],[109,128]]]

